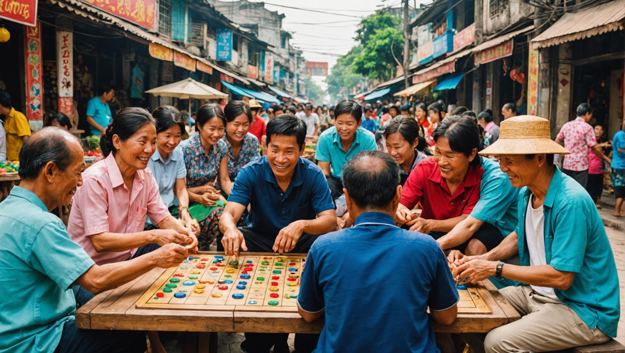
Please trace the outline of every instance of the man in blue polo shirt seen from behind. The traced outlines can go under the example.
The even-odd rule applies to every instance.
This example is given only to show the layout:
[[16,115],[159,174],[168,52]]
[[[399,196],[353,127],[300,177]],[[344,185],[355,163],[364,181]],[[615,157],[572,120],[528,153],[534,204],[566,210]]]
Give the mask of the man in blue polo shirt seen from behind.
[[427,307],[440,324],[456,319],[459,294],[441,248],[395,225],[399,180],[382,151],[362,151],[343,167],[356,223],[312,244],[297,297],[308,322],[325,310],[315,352],[438,352]]

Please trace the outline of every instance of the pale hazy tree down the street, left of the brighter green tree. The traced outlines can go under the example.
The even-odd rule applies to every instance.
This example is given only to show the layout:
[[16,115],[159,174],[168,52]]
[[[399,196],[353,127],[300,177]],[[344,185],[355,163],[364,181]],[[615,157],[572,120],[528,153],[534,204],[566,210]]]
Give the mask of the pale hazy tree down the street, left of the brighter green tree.
[[346,100],[351,88],[360,83],[362,75],[354,71],[353,63],[361,53],[362,46],[354,46],[332,66],[331,73],[326,78],[327,93],[332,99]]

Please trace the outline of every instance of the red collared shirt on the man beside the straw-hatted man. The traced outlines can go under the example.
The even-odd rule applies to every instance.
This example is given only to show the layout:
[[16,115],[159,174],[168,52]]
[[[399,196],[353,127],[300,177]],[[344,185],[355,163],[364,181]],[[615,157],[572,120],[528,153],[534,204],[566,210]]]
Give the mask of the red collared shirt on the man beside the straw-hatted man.
[[451,195],[434,157],[426,158],[408,176],[399,202],[411,210],[421,202],[421,217],[426,219],[447,220],[468,215],[479,201],[482,173],[481,165],[469,165],[467,175]]

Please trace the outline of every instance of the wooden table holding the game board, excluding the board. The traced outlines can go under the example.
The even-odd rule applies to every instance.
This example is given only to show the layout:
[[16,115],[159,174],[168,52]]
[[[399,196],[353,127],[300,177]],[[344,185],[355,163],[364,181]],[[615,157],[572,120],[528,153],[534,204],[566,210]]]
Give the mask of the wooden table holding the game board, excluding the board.
[[[319,333],[323,327],[323,319],[309,324],[296,313],[251,312],[238,309],[234,311],[136,309],[135,304],[139,298],[165,271],[166,269],[153,269],[128,284],[97,295],[76,312],[76,325],[82,329],[272,333]],[[484,280],[483,284],[484,288],[480,288],[479,292],[491,307],[492,314],[459,314],[453,324],[434,324],[434,330],[452,333],[488,332],[520,318],[489,280]],[[183,347],[187,347],[186,352],[198,351],[198,347],[207,344],[207,335],[194,337],[194,342],[183,343]]]

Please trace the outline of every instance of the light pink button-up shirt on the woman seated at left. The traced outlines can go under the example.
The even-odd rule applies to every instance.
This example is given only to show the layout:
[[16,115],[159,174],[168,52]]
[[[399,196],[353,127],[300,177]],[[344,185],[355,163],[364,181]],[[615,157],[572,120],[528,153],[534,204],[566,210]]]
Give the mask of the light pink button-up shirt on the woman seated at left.
[[68,233],[98,265],[128,260],[136,248],[97,252],[91,235],[143,232],[146,215],[156,224],[170,215],[152,172],[149,168],[136,171],[133,192],[129,193],[111,153],[83,172],[83,185],[76,190],[69,213]]

